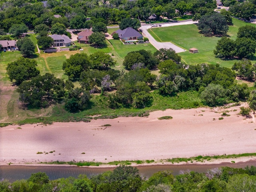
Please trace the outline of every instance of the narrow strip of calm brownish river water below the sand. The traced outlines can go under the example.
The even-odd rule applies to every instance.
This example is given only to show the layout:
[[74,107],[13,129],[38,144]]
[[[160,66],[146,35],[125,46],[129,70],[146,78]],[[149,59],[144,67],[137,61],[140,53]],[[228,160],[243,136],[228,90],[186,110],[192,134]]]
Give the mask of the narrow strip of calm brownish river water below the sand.
[[[184,164],[184,165],[150,165],[137,166],[140,174],[150,177],[152,174],[162,170],[170,170],[174,175],[179,174],[180,170],[190,170],[196,172],[206,172],[208,169],[229,166],[233,168],[245,168],[246,166],[256,166],[256,161],[240,163],[222,163],[222,164]],[[20,179],[28,179],[32,173],[45,172],[50,180],[58,178],[67,178],[69,176],[77,177],[79,174],[87,176],[100,174],[102,172],[113,170],[114,168],[100,167],[77,167],[77,166],[0,166],[0,180],[8,179],[10,182]]]

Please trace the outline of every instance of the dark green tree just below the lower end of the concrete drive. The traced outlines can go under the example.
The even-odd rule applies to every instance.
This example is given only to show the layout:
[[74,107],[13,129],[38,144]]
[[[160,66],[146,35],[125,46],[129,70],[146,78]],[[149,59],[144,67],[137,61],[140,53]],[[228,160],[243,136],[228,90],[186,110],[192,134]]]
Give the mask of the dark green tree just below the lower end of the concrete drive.
[[181,56],[176,54],[176,52],[172,48],[160,48],[159,50],[154,52],[154,56],[158,58],[160,61],[173,60],[176,63],[181,61]]

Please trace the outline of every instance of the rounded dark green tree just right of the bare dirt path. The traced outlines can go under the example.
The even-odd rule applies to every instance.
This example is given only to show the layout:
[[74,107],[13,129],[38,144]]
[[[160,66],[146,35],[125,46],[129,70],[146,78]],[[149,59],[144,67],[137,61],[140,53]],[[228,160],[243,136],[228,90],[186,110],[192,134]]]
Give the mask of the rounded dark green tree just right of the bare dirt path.
[[85,53],[71,55],[70,58],[63,62],[62,66],[69,80],[79,79],[81,72],[88,71],[90,68],[90,59]]

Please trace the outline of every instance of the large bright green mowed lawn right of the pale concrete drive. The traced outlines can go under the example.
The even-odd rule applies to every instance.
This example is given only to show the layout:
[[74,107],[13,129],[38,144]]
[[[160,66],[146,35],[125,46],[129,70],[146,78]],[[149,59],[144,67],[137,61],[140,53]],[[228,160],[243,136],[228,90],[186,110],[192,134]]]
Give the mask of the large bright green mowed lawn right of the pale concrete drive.
[[[246,24],[248,23],[233,18],[233,25],[229,26],[228,36],[235,40],[238,28]],[[255,24],[250,23],[249,25],[256,26]],[[191,54],[188,51],[179,53],[179,55],[182,57],[182,60],[187,64],[205,62],[210,64],[220,64],[221,66],[231,68],[234,62],[237,61],[233,59],[223,60],[216,57],[213,54],[213,50],[215,49],[217,41],[220,39],[220,37],[206,37],[198,33],[196,24],[153,28],[149,30],[149,32],[157,41],[173,42],[185,50],[189,50],[190,48],[197,48],[198,53],[196,54]]]

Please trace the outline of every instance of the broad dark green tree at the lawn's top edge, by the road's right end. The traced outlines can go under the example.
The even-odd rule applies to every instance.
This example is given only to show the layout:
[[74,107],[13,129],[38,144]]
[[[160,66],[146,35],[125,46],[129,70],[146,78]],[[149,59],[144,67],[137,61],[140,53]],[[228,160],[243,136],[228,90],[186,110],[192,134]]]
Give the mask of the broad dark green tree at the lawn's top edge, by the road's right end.
[[198,21],[197,27],[205,35],[220,35],[228,32],[226,18],[219,13],[203,15]]

